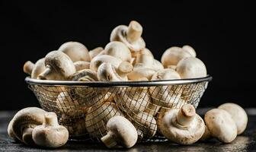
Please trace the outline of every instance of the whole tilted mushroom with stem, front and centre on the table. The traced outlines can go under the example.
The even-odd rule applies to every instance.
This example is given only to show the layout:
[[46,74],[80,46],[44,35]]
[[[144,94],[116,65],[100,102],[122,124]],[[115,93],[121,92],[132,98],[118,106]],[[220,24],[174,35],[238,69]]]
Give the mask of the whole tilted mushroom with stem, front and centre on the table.
[[109,148],[120,144],[133,147],[138,139],[136,128],[123,116],[114,116],[107,122],[107,135],[101,141]]

